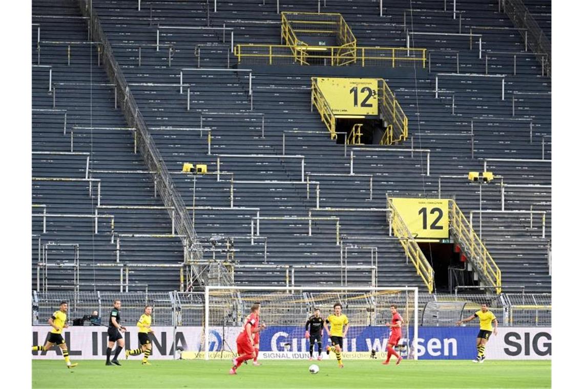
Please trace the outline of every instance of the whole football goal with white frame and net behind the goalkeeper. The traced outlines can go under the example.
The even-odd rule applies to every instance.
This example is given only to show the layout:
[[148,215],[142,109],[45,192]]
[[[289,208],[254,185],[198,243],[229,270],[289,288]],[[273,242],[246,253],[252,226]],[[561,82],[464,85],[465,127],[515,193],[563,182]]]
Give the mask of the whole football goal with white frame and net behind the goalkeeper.
[[[333,304],[349,319],[343,359],[383,358],[391,321],[390,306],[401,314],[402,339],[396,348],[404,358],[418,359],[418,288],[326,286],[206,286],[204,296],[204,359],[233,358],[236,339],[253,303],[260,303],[260,359],[307,359],[310,342],[305,323],[315,309],[326,319]],[[330,340],[324,332],[322,357]],[[372,353],[371,351],[376,351]],[[318,355],[314,345],[314,357]],[[332,354],[331,354],[332,355]],[[332,355],[333,356],[333,355]]]

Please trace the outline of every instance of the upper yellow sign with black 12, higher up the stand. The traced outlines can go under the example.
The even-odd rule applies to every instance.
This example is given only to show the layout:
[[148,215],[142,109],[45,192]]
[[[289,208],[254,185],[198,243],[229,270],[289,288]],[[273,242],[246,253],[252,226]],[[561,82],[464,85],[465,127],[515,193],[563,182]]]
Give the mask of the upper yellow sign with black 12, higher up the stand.
[[376,78],[317,78],[335,115],[377,115]]

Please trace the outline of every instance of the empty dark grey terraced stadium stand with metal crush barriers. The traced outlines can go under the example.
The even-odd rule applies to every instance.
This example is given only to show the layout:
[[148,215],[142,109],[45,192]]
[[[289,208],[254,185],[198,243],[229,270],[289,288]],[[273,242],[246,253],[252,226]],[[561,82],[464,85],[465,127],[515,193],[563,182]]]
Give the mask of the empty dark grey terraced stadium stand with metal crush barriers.
[[[218,1],[217,12],[213,2],[142,1],[139,11],[134,0],[92,3],[204,258],[228,262],[235,283],[425,288],[390,236],[390,194],[456,198],[504,285],[551,292],[551,78],[497,1],[457,1],[456,10],[450,1],[394,1],[383,16],[378,1],[326,2],[321,12],[341,13],[359,45],[427,49],[425,67],[395,69],[238,64],[232,36],[234,45],[280,44],[274,1]],[[551,13],[549,1],[525,3]],[[56,4],[33,1],[41,28],[33,289],[43,283],[36,258],[47,253],[48,288],[75,281],[64,268],[69,248],[51,246],[67,243],[79,244],[82,289],[119,290],[128,269],[131,290],[178,290],[185,249],[135,152],[135,130],[117,107],[123,94],[98,65],[100,45],[88,41],[78,3]],[[316,7],[280,1],[280,11]],[[33,61],[36,34],[33,25]],[[67,41],[78,42],[70,58]],[[409,117],[409,139],[391,152],[331,139],[311,109],[310,80],[343,75],[385,79]],[[185,162],[206,164],[208,174],[181,173]],[[466,175],[483,170],[496,179],[480,188],[479,206]],[[48,216],[43,229],[43,212],[69,216]],[[230,239],[231,248],[215,252]],[[96,262],[112,267],[89,266]]]

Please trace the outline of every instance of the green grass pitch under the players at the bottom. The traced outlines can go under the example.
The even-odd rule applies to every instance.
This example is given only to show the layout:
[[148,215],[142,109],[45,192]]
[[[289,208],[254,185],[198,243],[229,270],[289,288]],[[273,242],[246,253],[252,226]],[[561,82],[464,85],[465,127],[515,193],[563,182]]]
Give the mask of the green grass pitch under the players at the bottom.
[[[105,366],[98,360],[74,360],[67,369],[62,360],[34,360],[33,388],[549,388],[551,361],[403,360],[395,366],[380,359],[264,360],[262,366],[242,365],[230,376],[228,360],[120,360],[122,366]],[[308,366],[316,363],[318,374]]]

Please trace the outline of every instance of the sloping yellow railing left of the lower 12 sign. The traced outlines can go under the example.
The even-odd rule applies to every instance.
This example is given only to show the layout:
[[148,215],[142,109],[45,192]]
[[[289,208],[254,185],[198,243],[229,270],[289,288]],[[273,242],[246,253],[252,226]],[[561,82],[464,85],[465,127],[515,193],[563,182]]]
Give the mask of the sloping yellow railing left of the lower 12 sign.
[[418,275],[428,288],[428,293],[432,293],[434,290],[434,269],[432,265],[430,265],[424,253],[422,253],[418,243],[413,239],[412,233],[409,231],[404,219],[401,218],[401,215],[399,215],[399,212],[389,197],[387,197],[387,209],[387,221],[390,223],[394,235],[399,239],[399,243],[404,247],[406,258],[416,268]]

